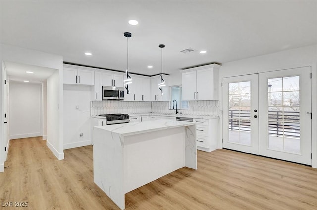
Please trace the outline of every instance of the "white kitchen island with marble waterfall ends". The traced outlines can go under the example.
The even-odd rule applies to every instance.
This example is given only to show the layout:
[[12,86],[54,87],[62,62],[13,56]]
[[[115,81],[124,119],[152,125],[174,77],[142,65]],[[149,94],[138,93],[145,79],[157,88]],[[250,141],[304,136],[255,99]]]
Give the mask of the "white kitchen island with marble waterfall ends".
[[125,193],[179,168],[197,169],[194,122],[96,126],[93,140],[94,182],[122,210]]

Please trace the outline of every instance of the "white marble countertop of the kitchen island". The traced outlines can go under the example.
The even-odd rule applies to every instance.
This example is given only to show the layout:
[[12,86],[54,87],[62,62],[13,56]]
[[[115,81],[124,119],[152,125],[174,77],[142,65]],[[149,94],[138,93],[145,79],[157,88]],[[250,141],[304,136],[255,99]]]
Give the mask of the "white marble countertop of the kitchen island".
[[132,122],[123,124],[113,124],[106,126],[96,126],[95,128],[117,133],[122,136],[147,133],[158,130],[165,130],[176,127],[195,125],[195,122],[175,121],[175,120],[155,120],[144,122]]

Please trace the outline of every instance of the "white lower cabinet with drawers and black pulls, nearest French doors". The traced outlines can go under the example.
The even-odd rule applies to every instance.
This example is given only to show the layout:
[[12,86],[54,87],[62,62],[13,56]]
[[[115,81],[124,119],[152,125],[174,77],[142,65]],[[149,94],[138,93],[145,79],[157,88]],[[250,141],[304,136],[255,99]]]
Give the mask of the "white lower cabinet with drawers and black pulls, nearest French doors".
[[197,119],[196,122],[196,142],[197,149],[211,152],[218,149],[219,141],[219,118]]

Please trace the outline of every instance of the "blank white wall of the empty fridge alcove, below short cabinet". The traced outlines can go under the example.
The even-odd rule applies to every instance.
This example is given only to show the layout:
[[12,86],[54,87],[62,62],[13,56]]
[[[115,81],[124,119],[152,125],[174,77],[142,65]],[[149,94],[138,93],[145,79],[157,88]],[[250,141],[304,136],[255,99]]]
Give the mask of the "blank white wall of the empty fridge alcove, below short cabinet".
[[91,145],[90,100],[90,86],[64,85],[64,149]]

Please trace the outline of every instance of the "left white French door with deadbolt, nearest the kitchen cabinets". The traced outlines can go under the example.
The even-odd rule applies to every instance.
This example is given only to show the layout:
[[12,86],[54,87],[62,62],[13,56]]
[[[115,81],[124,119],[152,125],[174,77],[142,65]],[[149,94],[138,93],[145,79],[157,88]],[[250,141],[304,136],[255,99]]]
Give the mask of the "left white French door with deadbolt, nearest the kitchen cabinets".
[[259,154],[258,74],[222,79],[223,148]]

